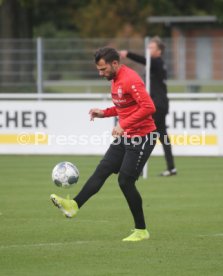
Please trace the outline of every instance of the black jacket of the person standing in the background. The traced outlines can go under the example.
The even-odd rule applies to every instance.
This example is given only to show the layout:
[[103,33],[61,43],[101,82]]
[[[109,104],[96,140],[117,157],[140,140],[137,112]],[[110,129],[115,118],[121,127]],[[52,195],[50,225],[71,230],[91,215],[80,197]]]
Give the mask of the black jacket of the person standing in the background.
[[[127,58],[146,65],[144,56],[128,52]],[[151,58],[150,65],[150,95],[157,110],[168,113],[169,101],[167,98],[167,72],[166,66],[161,57]]]

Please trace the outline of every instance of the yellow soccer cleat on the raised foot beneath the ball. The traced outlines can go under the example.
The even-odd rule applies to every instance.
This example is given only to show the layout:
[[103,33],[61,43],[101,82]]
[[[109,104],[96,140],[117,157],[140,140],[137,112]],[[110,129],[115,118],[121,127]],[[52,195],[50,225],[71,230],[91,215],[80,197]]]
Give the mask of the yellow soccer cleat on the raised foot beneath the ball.
[[58,207],[67,218],[76,216],[79,208],[77,202],[73,199],[65,199],[55,194],[50,195],[53,204]]

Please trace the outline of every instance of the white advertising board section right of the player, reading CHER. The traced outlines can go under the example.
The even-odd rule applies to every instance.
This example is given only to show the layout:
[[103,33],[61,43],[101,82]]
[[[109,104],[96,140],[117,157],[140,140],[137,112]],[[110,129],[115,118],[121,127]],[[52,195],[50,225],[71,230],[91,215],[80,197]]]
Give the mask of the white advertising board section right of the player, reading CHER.
[[[223,155],[223,103],[173,101],[167,116],[174,155]],[[154,154],[161,154],[158,144]]]

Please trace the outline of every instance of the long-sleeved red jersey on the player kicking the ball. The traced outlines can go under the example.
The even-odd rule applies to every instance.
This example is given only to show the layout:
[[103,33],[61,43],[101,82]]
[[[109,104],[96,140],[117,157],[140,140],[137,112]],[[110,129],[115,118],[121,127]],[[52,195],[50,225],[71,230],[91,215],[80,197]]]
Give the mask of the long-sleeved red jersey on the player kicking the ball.
[[156,129],[152,118],[154,103],[134,70],[121,65],[112,80],[111,95],[115,106],[103,110],[104,117],[118,116],[128,136],[145,136]]

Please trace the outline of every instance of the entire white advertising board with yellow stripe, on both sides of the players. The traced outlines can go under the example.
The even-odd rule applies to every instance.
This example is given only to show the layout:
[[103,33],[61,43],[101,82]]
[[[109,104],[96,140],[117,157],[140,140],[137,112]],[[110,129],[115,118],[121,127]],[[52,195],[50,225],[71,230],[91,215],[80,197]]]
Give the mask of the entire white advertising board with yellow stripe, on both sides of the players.
[[[2,154],[103,154],[114,118],[90,121],[89,110],[111,101],[3,101]],[[167,117],[174,155],[223,155],[223,103],[173,101]],[[162,146],[154,155],[163,154]]]

